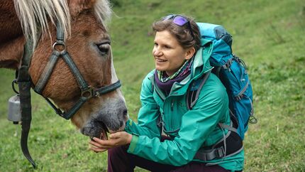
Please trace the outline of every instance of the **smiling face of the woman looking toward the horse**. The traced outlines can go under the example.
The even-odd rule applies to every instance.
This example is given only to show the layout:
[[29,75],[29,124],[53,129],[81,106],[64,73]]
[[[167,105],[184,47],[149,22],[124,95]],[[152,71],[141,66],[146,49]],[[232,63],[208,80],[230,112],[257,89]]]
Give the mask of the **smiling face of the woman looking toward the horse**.
[[[155,34],[153,56],[156,70],[165,71],[173,75],[184,64],[185,60],[192,58],[192,48],[184,49],[169,31],[160,31]],[[193,48],[194,49],[194,48]]]

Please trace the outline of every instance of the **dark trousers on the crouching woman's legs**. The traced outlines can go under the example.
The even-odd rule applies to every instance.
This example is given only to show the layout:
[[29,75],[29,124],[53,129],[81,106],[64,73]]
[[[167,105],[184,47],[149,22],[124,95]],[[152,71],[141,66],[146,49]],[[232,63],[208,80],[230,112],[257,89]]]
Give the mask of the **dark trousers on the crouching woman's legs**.
[[205,163],[190,162],[184,166],[170,166],[162,163],[156,163],[149,161],[140,156],[127,153],[126,146],[119,146],[108,150],[108,171],[109,172],[130,172],[133,171],[135,166],[144,168],[148,171],[208,171],[208,172],[227,172],[225,168],[221,166],[206,166]]

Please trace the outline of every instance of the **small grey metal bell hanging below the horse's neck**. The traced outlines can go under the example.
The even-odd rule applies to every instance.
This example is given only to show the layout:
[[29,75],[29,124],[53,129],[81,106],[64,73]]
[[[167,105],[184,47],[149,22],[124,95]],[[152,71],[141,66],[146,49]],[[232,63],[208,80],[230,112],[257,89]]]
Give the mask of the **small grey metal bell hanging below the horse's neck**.
[[14,95],[9,98],[9,114],[7,116],[9,121],[13,124],[18,124],[21,122],[21,107],[20,107],[20,97],[19,95]]

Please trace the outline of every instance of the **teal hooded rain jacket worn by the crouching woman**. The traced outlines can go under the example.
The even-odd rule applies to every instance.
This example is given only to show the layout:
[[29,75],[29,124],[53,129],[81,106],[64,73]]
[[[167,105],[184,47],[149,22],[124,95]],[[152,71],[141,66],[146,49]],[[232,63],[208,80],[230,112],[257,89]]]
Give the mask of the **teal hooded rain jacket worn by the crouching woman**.
[[[216,75],[209,75],[193,109],[188,110],[186,105],[189,84],[212,69],[209,57],[213,45],[206,40],[201,40],[201,43],[204,48],[197,51],[191,74],[182,82],[175,82],[168,96],[157,86],[153,86],[154,70],[143,80],[138,124],[131,119],[126,122],[125,130],[133,134],[128,153],[158,163],[183,166],[190,161],[201,161],[194,159],[196,152],[201,147],[211,146],[223,138],[223,131],[217,124],[230,124],[228,95]],[[160,115],[163,131],[172,140],[160,141],[162,129],[157,125],[160,123]],[[243,161],[244,155],[241,151],[224,159],[201,162],[218,163],[228,170],[240,171],[243,169]]]

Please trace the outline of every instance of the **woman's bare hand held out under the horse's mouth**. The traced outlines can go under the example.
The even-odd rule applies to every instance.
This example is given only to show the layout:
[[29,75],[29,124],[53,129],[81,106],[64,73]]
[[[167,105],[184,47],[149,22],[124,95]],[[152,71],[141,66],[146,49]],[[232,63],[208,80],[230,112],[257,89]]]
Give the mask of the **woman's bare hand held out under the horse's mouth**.
[[133,135],[128,134],[126,131],[118,131],[116,133],[110,134],[109,140],[101,140],[94,137],[94,141],[89,142],[89,144],[91,144],[90,149],[96,153],[103,152],[110,148],[130,144],[132,137]]

